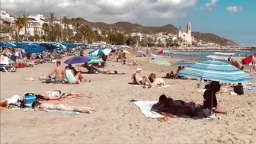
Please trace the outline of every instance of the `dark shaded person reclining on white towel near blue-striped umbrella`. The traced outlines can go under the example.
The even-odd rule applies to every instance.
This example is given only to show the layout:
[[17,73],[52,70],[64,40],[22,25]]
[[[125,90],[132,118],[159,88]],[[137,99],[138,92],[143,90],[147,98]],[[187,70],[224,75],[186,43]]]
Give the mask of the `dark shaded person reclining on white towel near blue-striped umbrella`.
[[152,107],[158,110],[159,114],[166,117],[176,118],[181,114],[186,114],[190,117],[203,117],[203,109],[196,107],[196,104],[191,101],[189,103],[181,100],[173,100],[172,98],[167,98],[165,94],[162,94],[158,103],[154,104]]

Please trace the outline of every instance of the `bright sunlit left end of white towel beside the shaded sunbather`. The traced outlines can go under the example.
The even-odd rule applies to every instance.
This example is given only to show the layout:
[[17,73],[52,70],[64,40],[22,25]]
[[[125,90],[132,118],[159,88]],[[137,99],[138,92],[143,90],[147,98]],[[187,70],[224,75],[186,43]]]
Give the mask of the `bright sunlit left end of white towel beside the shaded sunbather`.
[[157,101],[135,101],[134,104],[139,107],[146,118],[157,119],[160,117],[164,117],[161,114],[151,110],[152,105],[157,103]]

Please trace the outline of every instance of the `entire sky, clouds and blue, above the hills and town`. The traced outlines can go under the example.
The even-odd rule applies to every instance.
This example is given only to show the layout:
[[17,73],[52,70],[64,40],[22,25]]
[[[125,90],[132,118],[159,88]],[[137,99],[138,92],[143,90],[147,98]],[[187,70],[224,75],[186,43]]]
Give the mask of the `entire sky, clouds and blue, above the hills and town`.
[[173,24],[213,33],[245,46],[256,46],[256,0],[1,0],[10,14],[55,12],[57,18],[85,18],[114,24]]

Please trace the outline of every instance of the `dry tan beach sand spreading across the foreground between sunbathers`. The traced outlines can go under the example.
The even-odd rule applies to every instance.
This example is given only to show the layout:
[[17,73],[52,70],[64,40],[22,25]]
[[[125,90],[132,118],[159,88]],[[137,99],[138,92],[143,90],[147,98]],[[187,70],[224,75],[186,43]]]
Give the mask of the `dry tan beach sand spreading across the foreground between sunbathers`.
[[[67,59],[67,58],[65,58]],[[66,104],[94,107],[92,114],[69,115],[43,111],[1,110],[1,143],[254,143],[256,142],[255,91],[242,96],[217,95],[219,108],[228,111],[217,115],[221,119],[194,120],[176,118],[159,123],[146,119],[131,99],[157,101],[160,94],[174,99],[203,101],[203,93],[195,91],[190,80],[165,79],[168,88],[134,87],[129,85],[135,69],[143,75],[154,72],[162,77],[177,67],[155,66],[146,58],[130,56],[143,66],[123,66],[107,62],[104,69],[129,72],[127,75],[88,75],[92,82],[80,85],[43,84],[38,77],[47,75],[55,64],[43,63],[34,68],[18,69],[15,73],[1,72],[1,99],[33,91],[77,91],[83,98],[63,101]],[[63,59],[64,60],[64,59]],[[176,61],[177,59],[169,59]],[[62,65],[64,66],[64,65]],[[82,70],[85,70],[82,68]],[[162,70],[164,72],[162,72]],[[35,81],[25,81],[33,77]],[[255,77],[254,77],[255,78]]]

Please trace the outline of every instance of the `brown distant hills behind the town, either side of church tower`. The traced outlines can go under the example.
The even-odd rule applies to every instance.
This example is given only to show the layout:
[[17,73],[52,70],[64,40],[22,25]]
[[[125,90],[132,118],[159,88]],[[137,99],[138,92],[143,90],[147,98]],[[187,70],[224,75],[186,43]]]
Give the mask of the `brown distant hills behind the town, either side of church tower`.
[[[142,26],[140,24],[132,24],[130,22],[117,22],[115,24],[106,24],[104,22],[90,22],[82,18],[82,21],[84,24],[88,24],[91,27],[97,27],[101,30],[105,27],[111,27],[112,29],[117,29],[124,31],[126,33],[133,33],[141,31],[142,34],[157,34],[159,32],[168,32],[172,34],[178,34],[178,28],[174,27],[172,24],[167,24],[162,27],[148,27],[148,26]],[[228,45],[228,44],[236,44],[235,42],[232,42],[231,40],[228,40],[226,38],[222,38],[219,36],[216,36],[215,34],[203,34],[200,32],[192,32],[192,36],[195,37],[197,40],[203,40],[210,43],[219,43],[220,45]]]

